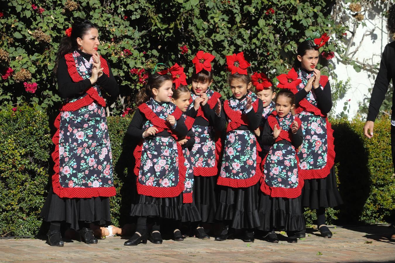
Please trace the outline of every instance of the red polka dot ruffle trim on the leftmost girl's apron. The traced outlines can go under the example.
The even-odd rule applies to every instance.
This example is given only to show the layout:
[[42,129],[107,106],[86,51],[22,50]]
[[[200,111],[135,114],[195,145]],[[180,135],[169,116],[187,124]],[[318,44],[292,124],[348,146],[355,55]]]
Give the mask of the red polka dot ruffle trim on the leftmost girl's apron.
[[[155,112],[153,112],[147,104],[143,103],[139,107],[139,110],[145,115],[145,117],[158,129],[158,132],[162,132],[166,129],[167,132],[171,134],[176,140],[177,136],[173,134],[171,131],[171,125],[164,119],[159,118]],[[175,108],[173,114],[175,119],[179,119],[181,117],[182,111],[179,108]],[[134,166],[134,173],[136,176],[139,175],[140,165],[141,165],[141,149],[143,147],[143,141],[141,140],[137,147],[134,149],[133,155],[135,157],[135,166]],[[182,147],[180,144],[177,143],[177,151],[178,151],[178,158],[179,158],[179,181],[175,187],[154,187],[149,185],[142,185],[139,183],[139,180],[136,180],[137,185],[137,193],[142,194],[145,196],[152,196],[158,198],[166,198],[166,197],[176,197],[179,196],[182,191],[184,190],[184,182],[186,176],[186,167],[184,165],[185,159],[182,153]],[[184,200],[183,202],[186,203],[188,199]]]

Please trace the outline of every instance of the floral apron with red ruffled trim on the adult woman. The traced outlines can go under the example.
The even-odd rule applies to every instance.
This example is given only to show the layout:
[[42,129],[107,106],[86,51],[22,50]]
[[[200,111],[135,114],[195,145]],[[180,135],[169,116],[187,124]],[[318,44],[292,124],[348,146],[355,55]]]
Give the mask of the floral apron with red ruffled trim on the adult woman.
[[[78,52],[64,56],[74,82],[87,79],[93,67]],[[100,57],[103,72],[107,62]],[[62,105],[55,119],[52,158],[55,174],[53,191],[60,198],[115,196],[111,144],[105,118],[105,101],[94,85],[85,94]]]

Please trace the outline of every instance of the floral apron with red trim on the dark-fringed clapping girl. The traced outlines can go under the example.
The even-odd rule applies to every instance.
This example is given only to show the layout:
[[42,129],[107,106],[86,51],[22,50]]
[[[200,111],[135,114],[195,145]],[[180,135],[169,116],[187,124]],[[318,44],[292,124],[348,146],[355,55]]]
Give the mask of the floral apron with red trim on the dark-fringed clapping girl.
[[[213,110],[215,104],[217,103],[217,100],[221,98],[221,94],[209,89],[206,91],[206,94],[209,98],[207,103]],[[189,99],[191,104],[189,108],[192,108],[194,106],[194,101],[197,97],[198,96],[196,96],[193,92],[191,93],[191,98]],[[203,119],[208,121],[208,119],[204,116],[204,112],[201,107],[199,107],[196,116],[202,117]],[[220,132],[214,131],[213,127],[205,127],[199,125],[194,125],[192,127],[192,130],[195,133],[195,144],[190,151],[190,155],[194,163],[194,175],[217,175],[217,164],[222,148]]]

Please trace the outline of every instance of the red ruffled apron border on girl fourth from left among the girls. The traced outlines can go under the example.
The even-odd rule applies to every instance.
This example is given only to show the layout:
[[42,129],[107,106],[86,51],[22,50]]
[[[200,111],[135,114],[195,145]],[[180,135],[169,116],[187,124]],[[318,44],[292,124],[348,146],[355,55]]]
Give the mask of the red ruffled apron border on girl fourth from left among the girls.
[[256,185],[256,183],[258,183],[258,181],[262,177],[261,168],[259,167],[259,163],[261,162],[261,157],[259,156],[259,153],[262,151],[262,149],[258,144],[258,141],[256,141],[255,143],[256,143],[256,168],[255,168],[254,176],[248,179],[233,179],[233,178],[218,176],[217,185],[224,185],[232,188],[246,188],[252,185]]

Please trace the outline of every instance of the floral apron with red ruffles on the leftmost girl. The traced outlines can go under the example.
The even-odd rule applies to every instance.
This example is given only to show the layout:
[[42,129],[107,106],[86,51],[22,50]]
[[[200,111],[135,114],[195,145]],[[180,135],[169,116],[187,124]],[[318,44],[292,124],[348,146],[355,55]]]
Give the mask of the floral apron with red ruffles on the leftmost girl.
[[177,143],[177,136],[171,131],[166,117],[171,114],[178,120],[182,112],[173,103],[160,105],[152,98],[138,108],[147,118],[143,130],[156,127],[158,132],[162,132],[166,129],[171,136],[150,136],[135,148],[137,193],[158,198],[179,196],[185,187],[187,168],[182,147]]

